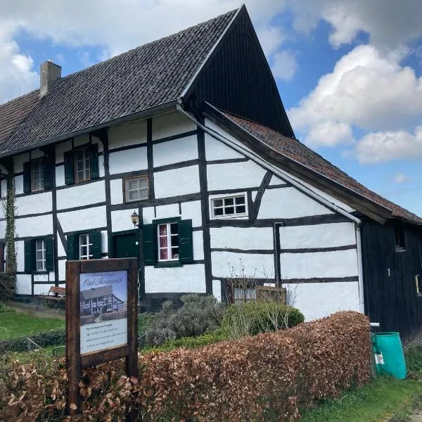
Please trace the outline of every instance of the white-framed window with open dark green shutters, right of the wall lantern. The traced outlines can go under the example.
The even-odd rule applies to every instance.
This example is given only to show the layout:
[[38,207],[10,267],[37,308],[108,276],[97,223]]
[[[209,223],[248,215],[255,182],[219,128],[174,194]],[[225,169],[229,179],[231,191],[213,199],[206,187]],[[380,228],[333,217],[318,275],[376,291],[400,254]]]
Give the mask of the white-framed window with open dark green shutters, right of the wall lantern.
[[177,267],[193,262],[192,220],[180,217],[143,224],[143,258],[146,265]]

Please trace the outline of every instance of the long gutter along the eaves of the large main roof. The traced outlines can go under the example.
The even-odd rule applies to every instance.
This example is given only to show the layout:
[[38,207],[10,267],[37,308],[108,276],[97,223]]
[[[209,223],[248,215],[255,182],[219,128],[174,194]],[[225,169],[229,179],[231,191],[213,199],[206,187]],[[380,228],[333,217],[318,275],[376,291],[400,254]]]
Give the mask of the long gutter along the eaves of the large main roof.
[[135,113],[124,115],[122,117],[117,117],[116,119],[113,119],[113,120],[108,120],[107,122],[94,124],[93,126],[89,126],[89,127],[84,127],[84,129],[80,129],[80,130],[77,130],[75,132],[68,132],[67,134],[54,136],[53,138],[46,139],[46,141],[36,143],[35,145],[30,145],[30,146],[25,146],[23,148],[14,149],[13,151],[10,151],[8,153],[0,154],[0,158],[6,158],[6,157],[10,157],[11,155],[17,155],[17,154],[20,154],[20,153],[25,153],[26,151],[30,151],[30,150],[33,150],[33,149],[36,149],[36,148],[40,148],[42,146],[46,146],[46,145],[49,145],[51,143],[65,141],[65,139],[69,139],[69,138],[73,138],[75,136],[83,135],[83,134],[86,134],[87,132],[94,132],[94,131],[99,130],[99,129],[104,129],[106,127],[110,127],[110,126],[115,125],[115,124],[131,122],[132,120],[138,120],[141,117],[147,117],[147,116],[154,115],[154,114],[160,114],[160,113],[163,113],[166,110],[169,110],[170,108],[174,108],[174,106],[176,106],[176,105],[177,105],[177,101],[173,100],[173,101],[169,101],[167,103],[162,103],[158,106],[154,106],[154,107],[151,107],[151,108],[145,108],[141,111],[136,111]]

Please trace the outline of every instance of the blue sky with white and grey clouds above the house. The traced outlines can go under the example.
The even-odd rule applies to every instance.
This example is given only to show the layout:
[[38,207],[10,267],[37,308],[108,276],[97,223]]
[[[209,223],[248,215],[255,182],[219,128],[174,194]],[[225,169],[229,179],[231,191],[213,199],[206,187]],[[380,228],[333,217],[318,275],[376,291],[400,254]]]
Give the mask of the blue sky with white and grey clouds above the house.
[[[0,103],[241,6],[0,0]],[[422,216],[422,1],[245,1],[298,139]],[[89,98],[87,98],[89,101]]]

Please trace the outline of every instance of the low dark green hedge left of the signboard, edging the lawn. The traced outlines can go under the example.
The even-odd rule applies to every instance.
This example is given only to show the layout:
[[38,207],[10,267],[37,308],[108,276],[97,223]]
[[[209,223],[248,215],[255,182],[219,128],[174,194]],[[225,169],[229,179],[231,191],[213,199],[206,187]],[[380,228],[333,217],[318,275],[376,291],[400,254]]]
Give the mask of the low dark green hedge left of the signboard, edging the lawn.
[[0,353],[24,352],[28,350],[27,337],[41,347],[65,344],[64,328],[53,328],[52,330],[39,331],[38,333],[30,333],[21,337],[0,340]]

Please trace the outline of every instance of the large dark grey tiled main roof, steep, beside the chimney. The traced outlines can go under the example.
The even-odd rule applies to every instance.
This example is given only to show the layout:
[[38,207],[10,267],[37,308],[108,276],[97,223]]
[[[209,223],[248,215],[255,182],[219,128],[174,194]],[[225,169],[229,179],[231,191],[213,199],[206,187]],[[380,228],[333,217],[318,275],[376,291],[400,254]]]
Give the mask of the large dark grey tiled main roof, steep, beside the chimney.
[[235,14],[63,77],[39,101],[34,91],[0,106],[0,155],[177,100]]

